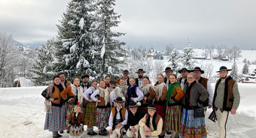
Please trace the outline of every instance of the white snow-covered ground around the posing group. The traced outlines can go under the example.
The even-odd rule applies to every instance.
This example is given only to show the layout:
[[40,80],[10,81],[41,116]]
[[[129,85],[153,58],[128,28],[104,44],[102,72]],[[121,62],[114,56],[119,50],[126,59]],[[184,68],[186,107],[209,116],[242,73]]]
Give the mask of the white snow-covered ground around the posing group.
[[[215,84],[212,84],[214,88]],[[0,89],[0,137],[51,137],[44,130],[44,98],[41,92],[46,86]],[[241,103],[236,115],[227,122],[227,137],[253,138],[256,135],[256,84],[239,83]],[[208,114],[211,110],[208,110]],[[207,115],[208,117],[208,115]],[[218,137],[218,124],[206,118],[209,138]],[[64,136],[68,137],[65,133]],[[84,133],[84,137],[87,136]],[[92,136],[93,137],[93,136]],[[94,136],[103,137],[103,136]],[[105,136],[109,137],[109,136]],[[167,137],[167,136],[166,136]]]

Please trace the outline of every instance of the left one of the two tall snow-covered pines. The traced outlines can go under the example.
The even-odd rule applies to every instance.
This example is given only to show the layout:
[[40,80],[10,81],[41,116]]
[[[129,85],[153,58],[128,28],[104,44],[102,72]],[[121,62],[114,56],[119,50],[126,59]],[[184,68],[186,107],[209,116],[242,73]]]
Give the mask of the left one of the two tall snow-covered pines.
[[87,73],[91,76],[96,39],[96,5],[93,0],[72,0],[58,27],[56,40],[56,58],[54,72],[66,73],[66,77],[81,76]]

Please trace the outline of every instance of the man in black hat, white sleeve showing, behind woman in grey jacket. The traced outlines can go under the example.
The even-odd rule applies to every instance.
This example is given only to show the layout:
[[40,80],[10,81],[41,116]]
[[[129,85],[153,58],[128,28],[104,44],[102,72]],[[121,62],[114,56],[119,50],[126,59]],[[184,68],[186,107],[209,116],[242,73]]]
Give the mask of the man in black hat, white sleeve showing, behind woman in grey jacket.
[[199,67],[196,67],[193,70],[193,73],[195,75],[195,80],[197,81],[197,83],[202,84],[203,87],[209,93],[209,99],[205,103],[203,103],[203,109],[206,114],[207,107],[212,108],[213,90],[212,90],[210,81],[208,79],[206,79],[205,77],[201,77],[201,75],[204,74],[204,72],[205,71],[201,70],[201,68],[199,68]]

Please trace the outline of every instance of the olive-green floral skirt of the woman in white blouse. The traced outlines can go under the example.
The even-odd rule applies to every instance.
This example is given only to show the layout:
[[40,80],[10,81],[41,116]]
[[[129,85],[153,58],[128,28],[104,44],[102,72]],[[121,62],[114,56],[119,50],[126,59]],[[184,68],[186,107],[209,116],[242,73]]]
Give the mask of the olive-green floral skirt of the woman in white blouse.
[[85,107],[84,125],[87,125],[88,128],[96,126],[96,114],[96,103],[87,102]]

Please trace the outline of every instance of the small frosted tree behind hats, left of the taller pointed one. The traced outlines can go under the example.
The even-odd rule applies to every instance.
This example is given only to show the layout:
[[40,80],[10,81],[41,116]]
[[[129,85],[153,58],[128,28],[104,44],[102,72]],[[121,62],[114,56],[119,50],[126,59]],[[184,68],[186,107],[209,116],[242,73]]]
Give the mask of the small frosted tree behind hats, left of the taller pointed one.
[[176,48],[172,49],[172,52],[169,53],[169,61],[171,62],[171,64],[169,65],[170,68],[172,68],[175,74],[178,74],[178,70],[179,70],[179,63],[180,63],[180,53],[178,52],[178,50]]

